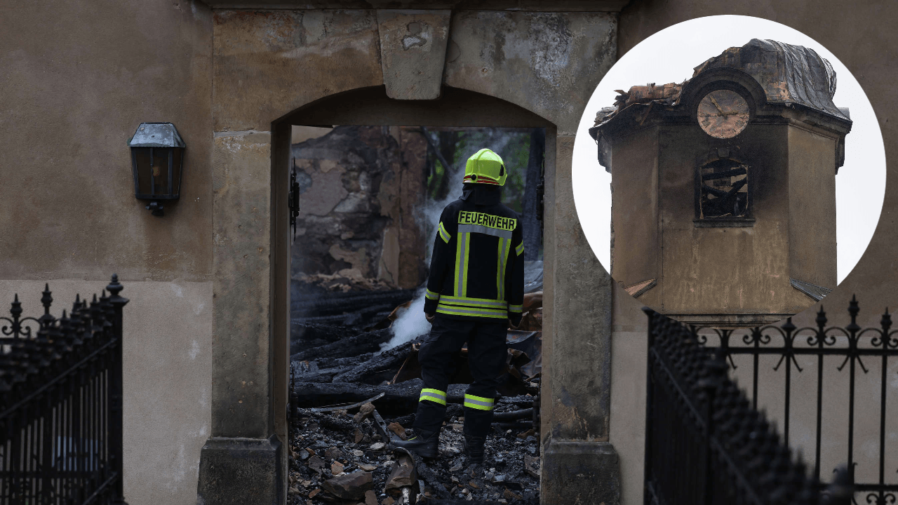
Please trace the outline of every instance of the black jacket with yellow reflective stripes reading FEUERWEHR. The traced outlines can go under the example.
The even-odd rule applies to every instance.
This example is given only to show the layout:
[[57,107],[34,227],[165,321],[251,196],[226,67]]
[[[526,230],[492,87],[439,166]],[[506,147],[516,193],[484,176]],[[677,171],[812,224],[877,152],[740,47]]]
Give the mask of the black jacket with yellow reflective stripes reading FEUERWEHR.
[[424,312],[454,319],[521,322],[524,234],[501,190],[464,184],[443,209],[430,260]]

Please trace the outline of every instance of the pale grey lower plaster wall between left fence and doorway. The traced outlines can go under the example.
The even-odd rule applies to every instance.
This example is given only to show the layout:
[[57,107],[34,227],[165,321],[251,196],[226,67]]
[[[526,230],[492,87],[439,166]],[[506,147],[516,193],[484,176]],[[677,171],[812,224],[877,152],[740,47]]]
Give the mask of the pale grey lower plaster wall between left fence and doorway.
[[[50,314],[100,295],[109,280],[52,279]],[[43,314],[43,280],[0,281],[5,306],[18,294],[24,316]],[[125,498],[133,505],[197,501],[199,449],[211,431],[212,283],[123,281]],[[8,311],[8,306],[4,312]],[[7,314],[8,315],[8,314]]]

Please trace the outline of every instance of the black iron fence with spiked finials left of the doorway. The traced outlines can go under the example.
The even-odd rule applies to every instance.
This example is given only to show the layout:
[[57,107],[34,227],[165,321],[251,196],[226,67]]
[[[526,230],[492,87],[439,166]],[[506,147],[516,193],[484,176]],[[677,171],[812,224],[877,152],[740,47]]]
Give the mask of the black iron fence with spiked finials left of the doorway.
[[[0,504],[125,503],[118,276],[90,303],[0,317]],[[106,295],[109,291],[109,296]]]

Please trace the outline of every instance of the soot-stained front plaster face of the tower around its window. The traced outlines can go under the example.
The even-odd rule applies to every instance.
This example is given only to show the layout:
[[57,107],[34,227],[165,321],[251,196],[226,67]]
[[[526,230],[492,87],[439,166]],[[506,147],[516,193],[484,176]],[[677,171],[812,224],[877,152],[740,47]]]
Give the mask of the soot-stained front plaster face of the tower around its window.
[[787,127],[751,125],[732,141],[731,148],[739,146],[736,159],[749,165],[753,226],[695,226],[696,158],[721,143],[697,125],[664,127],[659,137],[664,271],[657,310],[774,315],[776,321],[810,306],[813,300],[788,281]]

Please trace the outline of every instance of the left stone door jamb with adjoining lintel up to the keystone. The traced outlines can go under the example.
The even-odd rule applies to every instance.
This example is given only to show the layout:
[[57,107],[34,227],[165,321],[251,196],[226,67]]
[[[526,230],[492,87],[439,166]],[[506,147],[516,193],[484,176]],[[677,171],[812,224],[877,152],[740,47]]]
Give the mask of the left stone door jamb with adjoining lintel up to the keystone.
[[377,22],[371,10],[221,10],[213,33],[212,434],[198,502],[277,504],[286,501],[283,118],[383,84]]

